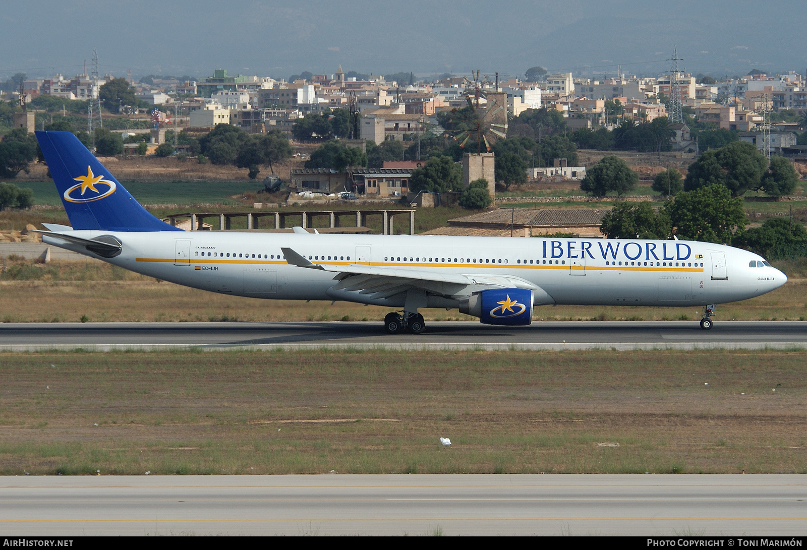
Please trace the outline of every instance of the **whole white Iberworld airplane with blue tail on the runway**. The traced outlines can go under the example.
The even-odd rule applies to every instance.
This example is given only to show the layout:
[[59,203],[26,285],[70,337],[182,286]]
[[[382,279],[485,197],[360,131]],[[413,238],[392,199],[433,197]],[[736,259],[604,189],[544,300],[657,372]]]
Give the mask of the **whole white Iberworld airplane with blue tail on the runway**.
[[71,223],[44,223],[44,243],[220,294],[395,308],[391,334],[422,333],[424,308],[515,326],[550,304],[706,304],[708,330],[716,304],[787,281],[753,252],[677,239],[186,232],[145,210],[72,133],[36,139]]

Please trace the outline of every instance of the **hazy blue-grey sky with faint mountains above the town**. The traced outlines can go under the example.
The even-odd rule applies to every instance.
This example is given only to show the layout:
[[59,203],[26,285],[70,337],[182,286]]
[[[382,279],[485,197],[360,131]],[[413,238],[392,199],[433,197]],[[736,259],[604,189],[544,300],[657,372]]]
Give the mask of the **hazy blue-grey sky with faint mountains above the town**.
[[807,68],[804,0],[4,0],[0,77]]

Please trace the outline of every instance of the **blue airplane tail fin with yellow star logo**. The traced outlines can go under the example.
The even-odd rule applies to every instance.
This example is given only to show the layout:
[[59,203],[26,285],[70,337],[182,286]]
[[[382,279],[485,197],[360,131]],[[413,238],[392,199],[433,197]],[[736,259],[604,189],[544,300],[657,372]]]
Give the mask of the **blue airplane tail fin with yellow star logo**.
[[73,229],[182,231],[149,214],[69,131],[37,131]]

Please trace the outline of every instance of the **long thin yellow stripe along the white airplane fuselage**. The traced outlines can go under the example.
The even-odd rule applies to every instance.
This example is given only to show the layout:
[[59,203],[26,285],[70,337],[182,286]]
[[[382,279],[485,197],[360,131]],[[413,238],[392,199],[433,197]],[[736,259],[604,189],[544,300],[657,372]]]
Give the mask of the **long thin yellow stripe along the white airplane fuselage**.
[[[166,262],[166,263],[186,263],[186,264],[263,264],[263,265],[289,265],[285,260],[174,260],[173,258],[135,258],[135,261],[151,261],[151,262]],[[650,267],[650,266],[629,266],[629,265],[519,265],[519,264],[429,264],[429,263],[393,263],[393,262],[376,262],[370,264],[367,261],[317,261],[313,260],[316,265],[374,265],[380,268],[387,267],[406,267],[406,268],[468,268],[468,269],[586,269],[592,271],[651,271],[651,272],[678,272],[678,273],[704,273],[704,268],[670,268],[670,267]]]

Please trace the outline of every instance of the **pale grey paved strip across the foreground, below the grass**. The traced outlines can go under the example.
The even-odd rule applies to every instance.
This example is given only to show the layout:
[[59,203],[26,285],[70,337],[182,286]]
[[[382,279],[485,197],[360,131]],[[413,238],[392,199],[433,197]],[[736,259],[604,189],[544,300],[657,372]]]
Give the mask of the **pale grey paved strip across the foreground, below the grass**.
[[799,535],[798,475],[3,477],[3,535]]

